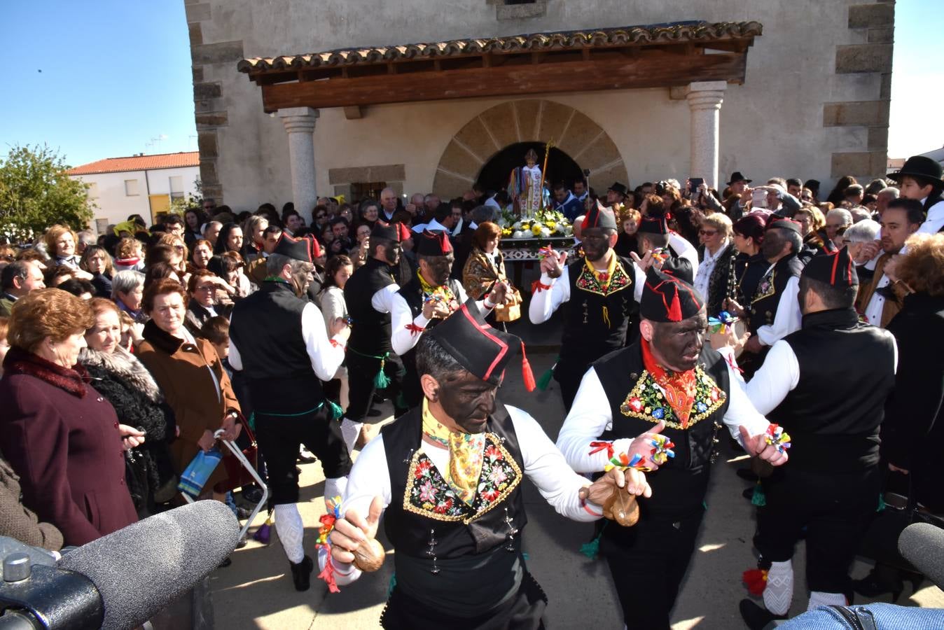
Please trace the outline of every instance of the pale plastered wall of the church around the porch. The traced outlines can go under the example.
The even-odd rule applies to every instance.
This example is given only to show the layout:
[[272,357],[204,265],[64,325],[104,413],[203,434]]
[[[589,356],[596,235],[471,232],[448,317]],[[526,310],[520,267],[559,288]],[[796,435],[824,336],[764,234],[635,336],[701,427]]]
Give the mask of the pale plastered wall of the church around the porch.
[[[748,54],[746,83],[731,85],[720,113],[722,181],[740,170],[755,181],[774,175],[816,178],[828,191],[831,154],[866,151],[865,127],[823,128],[823,103],[878,98],[880,75],[835,75],[835,46],[864,43],[848,28],[848,7],[861,0],[548,0],[547,15],[498,22],[485,0],[253,0],[211,2],[200,23],[204,42],[243,41],[245,57],[299,54],[358,45],[441,41],[541,30],[645,25],[682,20],[765,26]],[[203,66],[203,80],[221,82],[217,109],[228,125],[217,130],[216,169],[225,202],[251,209],[291,198],[286,134],[261,109],[261,90],[235,63]],[[382,78],[378,79],[382,80]],[[510,95],[510,98],[514,95]],[[634,186],[689,175],[689,111],[667,89],[528,95],[577,108],[613,138]],[[320,112],[314,131],[319,194],[332,193],[328,170],[406,165],[404,190],[430,191],[448,141],[465,123],[502,99],[473,99],[365,108],[348,121],[340,109]]]

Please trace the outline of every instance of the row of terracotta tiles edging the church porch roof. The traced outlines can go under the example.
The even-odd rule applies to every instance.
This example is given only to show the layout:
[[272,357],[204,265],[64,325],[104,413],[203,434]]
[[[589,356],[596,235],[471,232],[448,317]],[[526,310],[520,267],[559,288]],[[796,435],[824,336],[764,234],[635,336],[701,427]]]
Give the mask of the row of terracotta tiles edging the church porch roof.
[[329,50],[306,55],[246,58],[236,68],[254,74],[273,70],[324,66],[369,65],[394,59],[445,58],[483,53],[603,48],[660,43],[709,42],[752,39],[763,33],[758,22],[677,22],[662,25],[617,26],[586,30],[554,31],[432,43],[407,43],[367,48]]

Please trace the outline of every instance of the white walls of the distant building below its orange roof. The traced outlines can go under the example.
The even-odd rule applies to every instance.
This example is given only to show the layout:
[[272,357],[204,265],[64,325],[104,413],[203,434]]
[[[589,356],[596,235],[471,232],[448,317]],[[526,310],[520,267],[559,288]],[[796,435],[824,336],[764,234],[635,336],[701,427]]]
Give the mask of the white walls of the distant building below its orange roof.
[[[171,177],[175,176],[182,178],[184,196],[196,194],[194,180],[199,178],[200,169],[196,166],[187,166],[177,169],[71,176],[87,184],[94,184],[93,189],[89,191],[90,201],[97,206],[94,208],[92,224],[94,227],[94,222],[97,220],[105,219],[109,224],[118,224],[126,221],[130,214],[140,214],[145,221],[150,222],[151,210],[147,195],[170,194]],[[138,180],[137,195],[126,195],[125,181],[127,179]]]

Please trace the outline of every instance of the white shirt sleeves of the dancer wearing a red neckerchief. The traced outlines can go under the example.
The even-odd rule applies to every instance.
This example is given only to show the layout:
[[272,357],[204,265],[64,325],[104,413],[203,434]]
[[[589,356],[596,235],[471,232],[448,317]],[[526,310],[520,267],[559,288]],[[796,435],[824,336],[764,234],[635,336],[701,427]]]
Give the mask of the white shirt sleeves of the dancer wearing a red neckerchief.
[[[728,364],[728,373],[732,375],[734,373],[730,364]],[[733,439],[741,442],[739,427],[742,425],[748,429],[751,436],[767,431],[770,423],[750,404],[750,399],[744,391],[736,385],[730,390],[724,423]],[[603,431],[612,428],[612,407],[599,381],[596,369],[590,368],[587,373],[583,374],[581,388],[577,390],[574,405],[570,407],[570,413],[567,414],[561,433],[557,437],[557,448],[561,449],[567,463],[578,473],[597,473],[602,471],[609,462],[609,456],[605,450],[590,455],[590,451],[594,450],[590,442],[597,441]],[[616,453],[628,452],[631,442],[630,438],[614,440],[614,451]]]

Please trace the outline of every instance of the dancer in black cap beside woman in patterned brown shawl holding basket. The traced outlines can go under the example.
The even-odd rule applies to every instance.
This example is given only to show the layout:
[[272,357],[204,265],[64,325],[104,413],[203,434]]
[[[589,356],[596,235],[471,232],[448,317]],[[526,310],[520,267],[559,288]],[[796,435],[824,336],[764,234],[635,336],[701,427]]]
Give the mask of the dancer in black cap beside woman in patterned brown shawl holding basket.
[[[403,360],[406,370],[403,397],[409,407],[417,406],[423,400],[413,348],[424,331],[445,320],[468,297],[462,283],[449,277],[454,258],[447,233],[423,230],[416,235],[415,241],[419,269],[390,302],[390,344]],[[507,290],[507,284],[497,283],[495,289],[480,300],[479,308],[491,310],[497,304],[504,304]]]

